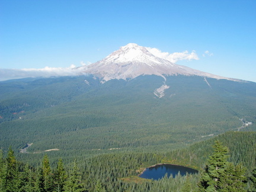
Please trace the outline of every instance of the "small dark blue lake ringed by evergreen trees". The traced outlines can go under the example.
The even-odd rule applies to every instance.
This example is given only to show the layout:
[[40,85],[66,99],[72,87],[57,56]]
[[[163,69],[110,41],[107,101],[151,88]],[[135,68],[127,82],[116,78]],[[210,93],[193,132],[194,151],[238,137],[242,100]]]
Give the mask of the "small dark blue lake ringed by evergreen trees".
[[174,178],[179,171],[182,176],[184,176],[186,173],[188,174],[198,173],[196,169],[191,169],[191,168],[183,167],[180,165],[163,164],[163,165],[156,165],[154,167],[146,168],[146,171],[144,171],[139,177],[147,178],[150,180],[151,179],[158,180],[159,178],[164,177],[165,174],[167,174],[168,177],[170,177],[170,175],[172,174],[172,177]]

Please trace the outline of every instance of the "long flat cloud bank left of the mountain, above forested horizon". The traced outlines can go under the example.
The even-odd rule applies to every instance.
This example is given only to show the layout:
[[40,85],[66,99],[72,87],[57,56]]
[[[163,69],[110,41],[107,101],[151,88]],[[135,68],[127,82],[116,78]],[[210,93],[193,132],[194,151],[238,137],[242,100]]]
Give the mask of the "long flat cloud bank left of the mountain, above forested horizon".
[[68,68],[50,68],[46,66],[41,69],[0,69],[0,81],[38,76],[50,77],[79,75],[79,71],[74,70],[75,67],[75,65],[71,65]]

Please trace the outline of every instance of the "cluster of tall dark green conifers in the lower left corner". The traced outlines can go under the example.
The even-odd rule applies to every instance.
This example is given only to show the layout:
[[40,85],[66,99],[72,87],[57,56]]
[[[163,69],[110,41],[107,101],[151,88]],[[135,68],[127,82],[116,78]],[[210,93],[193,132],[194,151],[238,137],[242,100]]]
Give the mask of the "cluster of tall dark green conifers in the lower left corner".
[[86,191],[81,181],[76,162],[67,173],[62,159],[59,159],[57,167],[50,167],[49,158],[44,155],[41,165],[37,168],[18,162],[14,151],[9,148],[7,158],[0,153],[0,191],[31,192],[31,191]]

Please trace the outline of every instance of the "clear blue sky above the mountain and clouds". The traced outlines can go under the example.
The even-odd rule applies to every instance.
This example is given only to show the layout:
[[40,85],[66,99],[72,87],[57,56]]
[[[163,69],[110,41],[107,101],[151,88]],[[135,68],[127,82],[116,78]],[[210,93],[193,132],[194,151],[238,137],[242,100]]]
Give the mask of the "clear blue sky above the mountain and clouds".
[[65,71],[137,43],[196,53],[176,63],[256,82],[255,9],[252,0],[0,1],[0,80],[9,69]]

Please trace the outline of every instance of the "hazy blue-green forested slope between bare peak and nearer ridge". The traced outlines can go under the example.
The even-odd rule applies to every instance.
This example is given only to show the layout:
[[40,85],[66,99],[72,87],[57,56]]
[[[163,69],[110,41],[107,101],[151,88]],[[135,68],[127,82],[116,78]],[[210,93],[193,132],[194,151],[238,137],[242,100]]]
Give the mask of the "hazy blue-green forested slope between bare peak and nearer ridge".
[[1,82],[5,151],[26,143],[33,143],[28,152],[57,148],[60,156],[111,148],[164,150],[238,130],[239,119],[252,123],[244,130],[255,130],[252,82],[167,76],[169,88],[159,98],[154,93],[164,83],[154,75],[104,84],[93,76],[32,80]]

